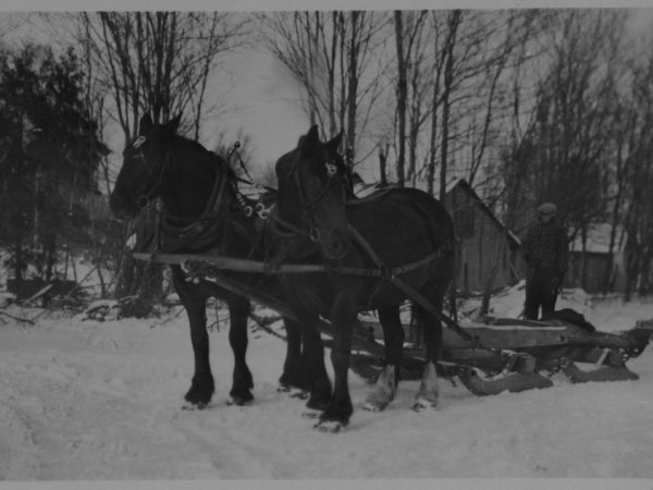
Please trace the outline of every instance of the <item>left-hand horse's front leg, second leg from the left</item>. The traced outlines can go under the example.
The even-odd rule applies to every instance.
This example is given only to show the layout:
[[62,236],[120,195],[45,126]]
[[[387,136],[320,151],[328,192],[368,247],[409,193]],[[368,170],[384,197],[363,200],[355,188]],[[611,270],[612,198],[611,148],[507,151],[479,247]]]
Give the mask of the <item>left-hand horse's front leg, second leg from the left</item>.
[[229,298],[229,343],[234,353],[233,385],[229,392],[236,405],[245,405],[254,400],[251,389],[254,381],[251,372],[245,360],[247,353],[247,317],[249,315],[249,299],[241,296]]

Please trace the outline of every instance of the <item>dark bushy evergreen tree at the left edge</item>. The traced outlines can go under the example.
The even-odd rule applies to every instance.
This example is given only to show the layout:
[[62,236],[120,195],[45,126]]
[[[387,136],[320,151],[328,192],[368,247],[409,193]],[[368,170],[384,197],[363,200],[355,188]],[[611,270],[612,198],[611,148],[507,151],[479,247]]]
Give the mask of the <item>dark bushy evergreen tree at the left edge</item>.
[[73,50],[27,46],[0,57],[0,243],[12,247],[14,277],[27,260],[51,279],[60,238],[88,225],[83,201],[97,193],[106,146],[84,100]]

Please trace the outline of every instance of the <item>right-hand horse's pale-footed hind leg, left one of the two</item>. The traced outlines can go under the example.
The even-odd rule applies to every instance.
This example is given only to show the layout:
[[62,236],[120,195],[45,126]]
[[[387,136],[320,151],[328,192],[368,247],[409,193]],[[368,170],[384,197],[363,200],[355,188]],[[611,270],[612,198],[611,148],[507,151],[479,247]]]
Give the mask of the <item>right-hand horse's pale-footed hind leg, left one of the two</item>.
[[372,412],[384,409],[395,397],[404,345],[404,328],[399,318],[399,307],[392,306],[378,311],[379,321],[383,327],[385,366],[364,405],[365,409]]

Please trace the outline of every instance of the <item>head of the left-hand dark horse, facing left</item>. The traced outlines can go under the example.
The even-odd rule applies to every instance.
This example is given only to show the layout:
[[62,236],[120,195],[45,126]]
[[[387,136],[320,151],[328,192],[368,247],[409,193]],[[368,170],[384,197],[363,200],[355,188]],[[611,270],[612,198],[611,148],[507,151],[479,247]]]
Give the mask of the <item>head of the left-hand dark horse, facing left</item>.
[[162,180],[172,164],[170,145],[181,114],[165,124],[153,124],[149,115],[140,119],[138,136],[123,151],[123,164],[109,203],[118,218],[131,219],[158,197]]

